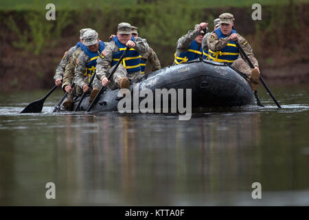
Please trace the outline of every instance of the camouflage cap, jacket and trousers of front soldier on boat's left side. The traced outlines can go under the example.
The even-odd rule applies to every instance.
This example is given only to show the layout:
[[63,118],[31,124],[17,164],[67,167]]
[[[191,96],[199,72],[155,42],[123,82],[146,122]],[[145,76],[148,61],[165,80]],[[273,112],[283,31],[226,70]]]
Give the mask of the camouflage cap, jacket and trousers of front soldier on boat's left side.
[[[120,23],[119,25],[121,24],[123,23]],[[125,34],[126,32],[130,34],[132,31],[131,26],[128,23],[125,23],[125,24],[128,25],[128,27],[125,27],[123,29],[124,30],[123,34]],[[119,28],[119,25],[118,25],[118,32],[119,30],[122,30]],[[119,34],[122,34],[122,32],[119,32]],[[135,38],[134,42],[135,42],[135,47],[133,48],[137,52],[139,52],[139,54],[143,56],[148,52],[148,43],[146,43],[146,40],[137,37]],[[113,70],[113,67],[111,67],[112,61],[113,61],[113,54],[119,51],[120,51],[119,47],[116,45],[115,41],[111,41],[111,43],[107,47],[105,47],[105,49],[100,54],[100,57],[98,58],[98,61],[97,61],[96,70],[97,70],[98,79],[102,80],[104,77],[108,78],[108,74],[110,74]],[[128,77],[130,80],[136,80],[138,78],[141,78],[142,76],[143,75],[141,74],[141,71],[128,74],[124,65],[120,64],[117,70],[115,71],[115,73],[113,74],[111,78],[111,82],[108,83],[108,87],[110,89],[116,89],[118,87],[117,86],[118,81],[121,78]]]

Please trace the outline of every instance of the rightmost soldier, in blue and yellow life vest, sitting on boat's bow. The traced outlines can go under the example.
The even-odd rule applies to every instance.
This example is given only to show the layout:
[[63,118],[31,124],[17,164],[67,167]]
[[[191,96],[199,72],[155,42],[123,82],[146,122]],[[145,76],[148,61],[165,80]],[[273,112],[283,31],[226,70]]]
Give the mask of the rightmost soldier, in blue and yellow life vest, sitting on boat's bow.
[[[247,76],[251,77],[249,83],[253,91],[258,89],[258,80],[260,78],[260,70],[258,60],[253,55],[253,50],[249,45],[248,41],[244,39],[240,34],[233,30],[233,14],[223,13],[220,14],[220,28],[214,30],[207,38],[209,60],[229,63],[233,67],[236,67],[240,72],[244,72]],[[236,46],[235,41],[238,41],[240,47],[249,57],[251,63],[255,66],[254,69],[250,69],[249,65],[244,61],[243,57],[238,58],[239,50]],[[241,54],[241,56],[243,56]]]

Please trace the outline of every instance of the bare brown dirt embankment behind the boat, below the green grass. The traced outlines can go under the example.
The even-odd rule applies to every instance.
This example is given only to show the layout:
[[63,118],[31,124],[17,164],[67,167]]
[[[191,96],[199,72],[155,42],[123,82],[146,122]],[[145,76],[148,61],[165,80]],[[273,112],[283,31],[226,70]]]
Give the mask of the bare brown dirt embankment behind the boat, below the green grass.
[[[293,10],[291,10],[291,7]],[[251,9],[229,8],[219,10],[204,10],[205,21],[214,18],[222,12],[233,12],[236,17],[236,30],[249,40],[253,52],[258,58],[264,80],[271,84],[304,84],[309,79],[309,5],[292,5],[281,8],[268,7],[262,10],[262,21],[251,19]],[[63,54],[78,41],[76,32],[87,25],[74,23],[67,25],[60,32],[60,38],[50,41],[44,50],[36,52],[33,49],[19,48],[16,42],[21,42],[21,36],[30,31],[23,13],[29,12],[0,12],[0,91],[48,89],[52,87],[55,69]],[[210,15],[209,15],[210,14]],[[8,27],[5,18],[12,16],[21,33],[18,34]],[[206,17],[207,16],[207,17]],[[209,17],[208,17],[209,16]],[[250,19],[249,19],[250,17]],[[208,19],[208,20],[207,20]],[[76,20],[78,21],[78,19]],[[132,23],[138,23],[128,20]],[[141,23],[138,23],[141,26]],[[209,21],[211,24],[211,21]],[[111,26],[105,26],[107,32],[99,32],[101,39],[107,41],[113,32]],[[210,25],[210,29],[213,25]],[[50,30],[55,32],[56,30]],[[99,30],[100,31],[100,30]],[[180,36],[179,36],[180,37]],[[39,41],[40,39],[37,39]],[[15,42],[15,43],[14,43]],[[26,38],[22,43],[33,43],[33,39]],[[174,45],[158,45],[148,41],[157,52],[162,67],[171,65],[174,54]]]

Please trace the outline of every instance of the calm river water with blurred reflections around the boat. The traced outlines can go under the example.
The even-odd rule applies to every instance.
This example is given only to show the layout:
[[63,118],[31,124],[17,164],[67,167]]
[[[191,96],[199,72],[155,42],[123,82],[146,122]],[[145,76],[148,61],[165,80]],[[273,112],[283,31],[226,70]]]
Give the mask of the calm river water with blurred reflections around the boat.
[[42,113],[20,114],[47,91],[2,93],[0,205],[308,206],[308,88],[271,87],[283,109],[260,89],[265,108],[198,109],[189,121],[51,113],[60,89]]

